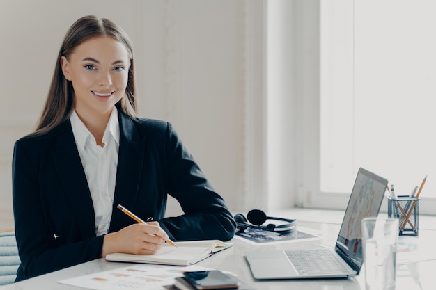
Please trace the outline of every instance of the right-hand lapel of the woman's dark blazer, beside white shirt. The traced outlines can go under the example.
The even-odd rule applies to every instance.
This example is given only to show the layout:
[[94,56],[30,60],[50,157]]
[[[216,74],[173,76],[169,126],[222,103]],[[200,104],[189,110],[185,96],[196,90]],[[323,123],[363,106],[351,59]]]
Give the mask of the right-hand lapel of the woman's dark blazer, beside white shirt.
[[[131,209],[135,200],[137,200],[139,181],[143,174],[144,146],[146,143],[146,138],[139,136],[137,128],[127,115],[119,113],[118,116],[120,122],[120,148],[111,227],[117,220],[114,217],[120,214],[120,211],[116,209],[118,204]],[[117,225],[114,225],[114,228],[116,227]]]

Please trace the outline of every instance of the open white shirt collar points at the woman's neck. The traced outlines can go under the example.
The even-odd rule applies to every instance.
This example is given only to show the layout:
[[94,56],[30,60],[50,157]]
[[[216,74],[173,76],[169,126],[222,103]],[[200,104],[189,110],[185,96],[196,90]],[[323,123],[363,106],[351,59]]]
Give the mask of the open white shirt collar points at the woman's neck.
[[[70,116],[70,122],[72,127],[72,132],[75,136],[77,147],[80,147],[81,149],[85,148],[86,140],[91,136],[91,132],[86,128],[84,122],[81,122],[79,116],[77,115],[76,111],[72,111],[72,114]],[[109,122],[107,122],[106,129],[104,130],[103,135],[103,142],[107,144],[107,139],[109,136],[112,136],[119,145],[120,143],[120,124],[118,122],[118,110],[114,106],[112,109],[111,116],[109,117]],[[95,142],[95,141],[94,141]]]

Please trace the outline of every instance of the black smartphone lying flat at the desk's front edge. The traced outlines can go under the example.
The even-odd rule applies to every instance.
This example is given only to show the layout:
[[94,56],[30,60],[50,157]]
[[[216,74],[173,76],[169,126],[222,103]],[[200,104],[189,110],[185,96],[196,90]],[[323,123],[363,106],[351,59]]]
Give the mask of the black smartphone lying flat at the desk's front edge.
[[198,290],[237,289],[239,286],[235,277],[219,270],[185,272],[183,277]]

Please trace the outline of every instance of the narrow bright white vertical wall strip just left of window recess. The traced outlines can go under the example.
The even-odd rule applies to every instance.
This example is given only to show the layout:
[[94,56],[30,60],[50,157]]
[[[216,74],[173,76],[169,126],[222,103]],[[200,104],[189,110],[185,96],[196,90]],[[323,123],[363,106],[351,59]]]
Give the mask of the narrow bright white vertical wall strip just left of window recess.
[[[293,172],[295,150],[293,138],[294,84],[293,39],[286,37],[295,26],[293,1],[269,1],[267,3],[267,176],[268,204],[280,208],[293,200]],[[290,13],[289,13],[290,12]],[[286,65],[288,64],[288,65]]]

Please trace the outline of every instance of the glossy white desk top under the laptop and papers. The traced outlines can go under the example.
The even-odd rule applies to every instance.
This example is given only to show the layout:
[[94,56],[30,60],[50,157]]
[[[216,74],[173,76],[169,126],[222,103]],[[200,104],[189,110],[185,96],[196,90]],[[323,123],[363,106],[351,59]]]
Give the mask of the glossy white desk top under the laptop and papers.
[[[326,223],[316,223],[314,221],[304,222],[304,213],[306,213],[307,220],[313,216],[318,216],[320,220],[325,220]],[[311,241],[310,243],[322,243],[323,245],[334,245],[336,236],[339,231],[339,223],[341,223],[341,211],[307,211],[301,210],[293,211],[294,216],[290,216],[289,212],[280,213],[281,217],[298,218],[298,226],[310,227],[318,229],[322,232],[325,239]],[[324,218],[323,218],[324,216]],[[428,220],[433,220],[434,217],[428,217]],[[420,216],[423,225],[426,225],[426,217]],[[430,223],[428,223],[430,225]],[[396,290],[410,290],[410,289],[435,289],[436,273],[433,269],[436,267],[436,251],[433,250],[433,244],[436,238],[436,225],[435,229],[421,228],[419,229],[418,237],[407,237],[403,239],[400,236],[399,241],[416,241],[418,242],[417,254],[420,257],[425,257],[426,252],[432,253],[435,259],[430,261],[419,261],[412,264],[403,264],[397,267],[397,280]],[[412,239],[412,240],[411,240]],[[238,275],[240,280],[258,290],[288,290],[288,289],[324,289],[324,290],[364,290],[364,268],[362,268],[359,276],[350,279],[332,279],[332,280],[279,280],[279,281],[256,281],[251,276],[247,262],[244,259],[244,252],[247,250],[255,250],[262,248],[290,248],[298,247],[304,248],[309,245],[308,242],[294,242],[294,243],[280,243],[280,244],[266,244],[266,245],[251,245],[239,239],[233,239],[234,246],[222,252],[219,252],[212,257],[199,262],[198,266],[205,266],[209,268],[217,268],[220,270],[231,271]],[[89,261],[84,264],[65,268],[61,271],[49,273],[29,280],[18,282],[15,284],[6,285],[1,289],[29,289],[29,290],[67,290],[67,289],[84,289],[72,287],[65,284],[56,283],[56,281],[67,279],[70,277],[77,277],[81,275],[88,275],[91,273],[98,273],[102,271],[109,271],[114,268],[125,267],[126,264],[108,262],[104,259],[97,259]]]

